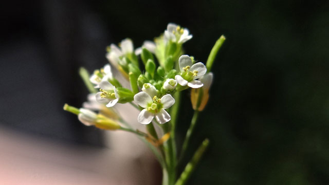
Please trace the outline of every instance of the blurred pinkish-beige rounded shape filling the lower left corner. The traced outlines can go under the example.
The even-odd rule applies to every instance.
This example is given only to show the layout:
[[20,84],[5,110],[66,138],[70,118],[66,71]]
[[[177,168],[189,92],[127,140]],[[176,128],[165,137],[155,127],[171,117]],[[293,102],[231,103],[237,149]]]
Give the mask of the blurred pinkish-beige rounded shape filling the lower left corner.
[[106,133],[110,142],[100,149],[0,127],[0,184],[158,184],[158,164],[143,142]]

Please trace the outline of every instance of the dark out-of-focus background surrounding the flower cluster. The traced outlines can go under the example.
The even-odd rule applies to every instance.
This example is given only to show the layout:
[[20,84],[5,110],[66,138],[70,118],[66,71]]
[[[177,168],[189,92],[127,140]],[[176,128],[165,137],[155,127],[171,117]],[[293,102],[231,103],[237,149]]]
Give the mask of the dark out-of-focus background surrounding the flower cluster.
[[[189,28],[186,53],[202,62],[227,38],[187,156],[206,137],[211,145],[189,184],[329,183],[327,1],[44,0],[0,10],[2,126],[102,147],[100,131],[62,110],[85,101],[79,67],[100,68],[107,45],[129,37],[139,47],[173,22]],[[192,116],[182,97],[178,139]]]

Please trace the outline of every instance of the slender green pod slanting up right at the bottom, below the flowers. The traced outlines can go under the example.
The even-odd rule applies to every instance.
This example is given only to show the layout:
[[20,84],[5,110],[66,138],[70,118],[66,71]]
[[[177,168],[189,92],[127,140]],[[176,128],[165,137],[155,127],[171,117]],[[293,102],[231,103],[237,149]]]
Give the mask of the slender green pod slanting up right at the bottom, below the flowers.
[[187,182],[192,172],[194,171],[196,164],[199,162],[204,152],[206,151],[208,145],[209,145],[209,139],[205,139],[202,142],[202,144],[198,147],[197,151],[194,153],[190,162],[186,165],[184,171],[181,173],[175,185],[184,185]]

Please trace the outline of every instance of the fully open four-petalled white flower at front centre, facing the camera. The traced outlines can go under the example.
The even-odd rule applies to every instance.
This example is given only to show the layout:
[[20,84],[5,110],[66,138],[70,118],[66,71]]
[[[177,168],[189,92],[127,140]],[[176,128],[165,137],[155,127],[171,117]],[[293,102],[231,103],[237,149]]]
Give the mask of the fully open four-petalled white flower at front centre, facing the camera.
[[175,99],[171,95],[164,95],[161,99],[154,96],[152,99],[149,94],[143,91],[134,96],[134,101],[144,108],[138,115],[138,122],[149,124],[154,117],[160,124],[170,121],[171,117],[165,109],[175,103]]

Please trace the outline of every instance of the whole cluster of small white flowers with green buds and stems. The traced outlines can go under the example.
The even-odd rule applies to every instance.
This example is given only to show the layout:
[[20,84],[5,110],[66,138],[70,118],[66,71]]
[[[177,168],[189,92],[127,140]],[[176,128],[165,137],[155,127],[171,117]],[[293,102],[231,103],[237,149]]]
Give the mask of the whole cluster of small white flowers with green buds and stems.
[[[174,138],[175,132],[170,129],[173,129],[176,123],[175,119],[171,120],[171,114],[177,115],[180,91],[191,89],[191,103],[195,110],[182,145],[181,155],[184,155],[197,120],[197,112],[205,108],[209,99],[213,74],[207,69],[211,69],[216,52],[225,37],[222,36],[216,42],[207,60],[207,66],[202,62],[195,62],[194,57],[184,54],[182,45],[190,39],[192,35],[187,28],[170,23],[154,41],[144,41],[142,46],[136,49],[131,39],[122,40],[118,46],[109,45],[106,48],[109,64],[96,69],[92,75],[89,75],[84,68],[80,70],[80,75],[90,91],[88,101],[83,103],[82,108],[64,105],[65,110],[76,114],[80,122],[86,126],[131,132],[141,136],[145,142],[150,142],[152,151],[164,169],[163,172],[168,174],[166,177],[168,179],[163,180],[164,184],[165,182],[174,184],[177,180],[175,179],[177,164],[176,159],[173,159],[177,156],[174,141],[167,143],[166,141]],[[123,78],[115,76],[113,68],[119,71],[119,75],[121,74]],[[118,79],[123,79],[125,82]],[[130,83],[130,88],[121,85],[126,82]],[[117,114],[115,107],[118,103],[129,103],[140,110],[136,120],[147,125],[148,132],[133,130],[132,126]],[[163,130],[161,138],[158,138],[153,126],[157,123]],[[209,141],[205,139],[197,151],[197,156],[202,155],[208,143]],[[158,147],[161,144],[167,146]],[[176,184],[184,182],[186,177],[188,175],[182,175],[182,179],[178,179]]]

